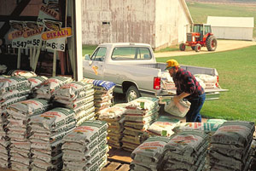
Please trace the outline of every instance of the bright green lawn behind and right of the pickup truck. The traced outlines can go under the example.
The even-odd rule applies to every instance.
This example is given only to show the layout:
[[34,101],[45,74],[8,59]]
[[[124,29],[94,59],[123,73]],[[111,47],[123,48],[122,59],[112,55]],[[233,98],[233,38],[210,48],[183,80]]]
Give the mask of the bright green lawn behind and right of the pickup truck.
[[201,114],[207,118],[253,121],[256,123],[256,46],[233,51],[157,58],[175,59],[180,64],[216,68],[221,88],[219,100],[208,100]]

